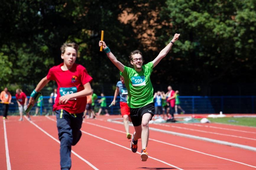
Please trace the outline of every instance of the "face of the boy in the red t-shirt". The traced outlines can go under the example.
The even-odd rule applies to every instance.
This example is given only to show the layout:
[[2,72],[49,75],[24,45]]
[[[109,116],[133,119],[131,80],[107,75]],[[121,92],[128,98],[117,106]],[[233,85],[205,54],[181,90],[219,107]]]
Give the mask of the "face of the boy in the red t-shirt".
[[61,54],[61,58],[65,65],[72,66],[77,59],[77,51],[72,47],[67,47],[64,54]]

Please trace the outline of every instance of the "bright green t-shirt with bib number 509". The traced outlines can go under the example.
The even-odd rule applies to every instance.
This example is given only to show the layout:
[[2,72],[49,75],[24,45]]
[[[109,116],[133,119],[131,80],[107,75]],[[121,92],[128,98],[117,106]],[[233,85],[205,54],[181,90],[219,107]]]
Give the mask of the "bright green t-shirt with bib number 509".
[[142,65],[142,71],[137,72],[134,68],[124,66],[124,84],[128,91],[127,104],[130,108],[140,108],[153,103],[153,86],[150,74],[153,71],[153,62]]

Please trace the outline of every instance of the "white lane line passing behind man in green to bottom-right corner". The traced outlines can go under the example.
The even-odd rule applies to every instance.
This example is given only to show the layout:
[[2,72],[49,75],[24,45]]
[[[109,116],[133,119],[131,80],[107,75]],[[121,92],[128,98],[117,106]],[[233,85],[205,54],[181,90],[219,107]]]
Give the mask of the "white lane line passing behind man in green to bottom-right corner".
[[[126,134],[126,132],[119,131],[119,130],[116,130],[116,129],[113,129],[113,128],[109,128],[109,127],[106,127],[106,126],[101,126],[101,125],[98,125],[98,124],[95,124],[95,123],[88,123],[88,122],[85,122],[85,123],[90,124],[90,125],[94,125],[94,126],[98,126],[98,127],[101,127],[101,128],[106,128],[106,129],[109,129],[109,130],[112,130],[112,131],[116,131],[116,132],[120,132],[120,133],[125,133],[125,134]],[[256,166],[249,165],[249,164],[245,164],[245,163],[239,162],[239,161],[234,161],[234,160],[232,160],[232,159],[227,159],[227,158],[223,158],[223,157],[220,157],[220,156],[207,154],[207,153],[204,153],[204,152],[201,152],[201,151],[197,151],[197,150],[194,150],[194,149],[185,148],[185,147],[183,147],[183,146],[174,145],[174,144],[171,144],[171,143],[167,143],[167,142],[155,140],[155,139],[152,139],[152,138],[149,138],[149,139],[152,140],[152,141],[155,141],[155,142],[159,142],[159,143],[166,144],[166,145],[175,146],[175,147],[178,147],[178,148],[186,149],[186,150],[193,151],[193,152],[197,152],[197,153],[200,153],[200,154],[204,154],[204,155],[212,156],[212,157],[215,157],[215,158],[224,159],[224,160],[231,161],[231,162],[235,162],[235,163],[238,163],[238,164],[250,166],[250,167],[252,167],[252,168],[256,168]],[[140,153],[139,153],[139,154],[140,154]]]

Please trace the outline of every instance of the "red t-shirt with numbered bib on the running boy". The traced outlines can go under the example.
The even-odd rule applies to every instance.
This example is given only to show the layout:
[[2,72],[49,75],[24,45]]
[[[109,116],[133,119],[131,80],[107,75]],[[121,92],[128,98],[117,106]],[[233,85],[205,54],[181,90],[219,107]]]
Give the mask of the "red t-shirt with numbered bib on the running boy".
[[62,95],[67,95],[71,93],[76,93],[84,90],[86,83],[93,80],[93,78],[87,73],[85,67],[82,65],[74,63],[72,68],[67,71],[61,70],[60,65],[50,68],[47,74],[47,80],[55,80],[57,88],[57,97],[55,104],[53,105],[53,110],[63,109],[69,113],[82,113],[85,111],[85,106],[87,103],[86,96],[77,98],[76,100],[69,100],[66,104],[59,104],[59,98]]

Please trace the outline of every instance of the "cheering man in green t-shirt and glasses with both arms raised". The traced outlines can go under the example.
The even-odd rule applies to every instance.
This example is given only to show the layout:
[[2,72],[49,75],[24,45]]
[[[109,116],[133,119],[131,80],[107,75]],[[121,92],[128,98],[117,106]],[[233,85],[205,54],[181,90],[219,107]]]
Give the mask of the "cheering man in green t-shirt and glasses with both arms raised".
[[150,81],[150,75],[153,68],[167,55],[174,42],[179,39],[180,34],[175,34],[171,42],[161,50],[158,56],[146,65],[143,65],[142,53],[135,50],[130,53],[129,59],[133,68],[124,66],[119,62],[106,43],[99,41],[99,47],[103,46],[108,58],[121,71],[120,75],[124,77],[124,84],[128,91],[127,104],[130,109],[130,117],[135,132],[132,136],[131,150],[137,152],[137,142],[141,138],[141,161],[147,161],[148,153],[146,152],[149,138],[148,123],[154,115],[153,104],[153,86]]

